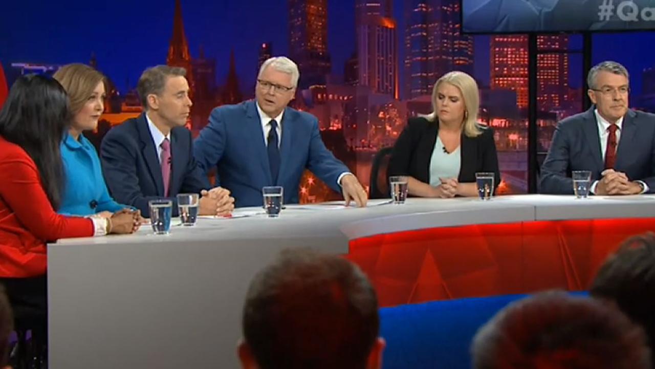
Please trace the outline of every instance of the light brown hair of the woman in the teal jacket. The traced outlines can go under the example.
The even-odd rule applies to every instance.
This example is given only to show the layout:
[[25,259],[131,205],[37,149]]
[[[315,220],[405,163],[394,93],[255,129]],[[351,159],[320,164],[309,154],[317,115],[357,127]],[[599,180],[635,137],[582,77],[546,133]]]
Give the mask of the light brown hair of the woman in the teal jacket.
[[66,90],[73,115],[77,114],[86,100],[96,89],[98,83],[105,82],[105,76],[84,64],[67,64],[52,75]]

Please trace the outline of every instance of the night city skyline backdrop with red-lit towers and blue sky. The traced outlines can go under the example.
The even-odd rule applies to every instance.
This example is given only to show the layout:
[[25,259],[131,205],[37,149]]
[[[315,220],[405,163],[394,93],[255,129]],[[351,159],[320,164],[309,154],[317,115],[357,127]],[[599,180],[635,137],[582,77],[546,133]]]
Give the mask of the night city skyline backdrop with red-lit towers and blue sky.
[[[527,190],[527,37],[460,34],[459,0],[285,0],[202,3],[144,0],[108,4],[33,0],[0,9],[0,62],[9,83],[39,71],[22,63],[90,64],[111,84],[96,132],[141,112],[132,90],[143,69],[187,68],[194,134],[209,112],[252,98],[258,65],[286,55],[301,70],[297,109],[316,115],[324,141],[368,185],[373,155],[391,146],[408,117],[429,113],[443,73],[463,70],[481,90],[479,121],[495,128],[500,191]],[[592,36],[592,62],[616,60],[631,72],[631,106],[655,110],[654,32]],[[557,121],[582,107],[581,35],[540,35],[538,151]],[[561,51],[564,51],[563,53]],[[637,55],[639,57],[637,57]],[[305,176],[301,199],[330,197]]]

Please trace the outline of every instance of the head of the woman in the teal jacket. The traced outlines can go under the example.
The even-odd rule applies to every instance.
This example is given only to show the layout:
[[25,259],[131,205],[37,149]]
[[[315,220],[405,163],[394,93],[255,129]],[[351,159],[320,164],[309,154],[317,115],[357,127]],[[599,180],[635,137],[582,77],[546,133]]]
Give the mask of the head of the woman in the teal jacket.
[[62,84],[71,104],[71,134],[94,130],[105,110],[105,76],[84,64],[67,64],[52,75]]

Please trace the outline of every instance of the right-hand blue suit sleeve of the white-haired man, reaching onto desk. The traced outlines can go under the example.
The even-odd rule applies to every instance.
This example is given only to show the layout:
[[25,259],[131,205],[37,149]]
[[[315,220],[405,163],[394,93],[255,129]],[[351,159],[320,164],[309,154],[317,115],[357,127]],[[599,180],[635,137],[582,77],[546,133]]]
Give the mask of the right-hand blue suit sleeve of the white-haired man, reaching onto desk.
[[307,168],[337,192],[341,192],[341,186],[337,183],[339,176],[350,171],[323,143],[316,117],[312,117],[312,134],[309,143]]

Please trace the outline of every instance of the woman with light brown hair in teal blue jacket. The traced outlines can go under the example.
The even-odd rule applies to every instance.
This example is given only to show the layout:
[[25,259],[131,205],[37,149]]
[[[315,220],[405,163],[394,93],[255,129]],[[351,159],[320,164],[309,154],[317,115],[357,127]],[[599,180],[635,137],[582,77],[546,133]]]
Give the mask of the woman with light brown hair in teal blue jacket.
[[64,86],[73,116],[71,128],[62,140],[65,186],[61,214],[77,216],[111,216],[130,206],[114,201],[102,176],[100,159],[84,130],[93,130],[104,110],[105,77],[84,64],[68,64],[54,73]]

